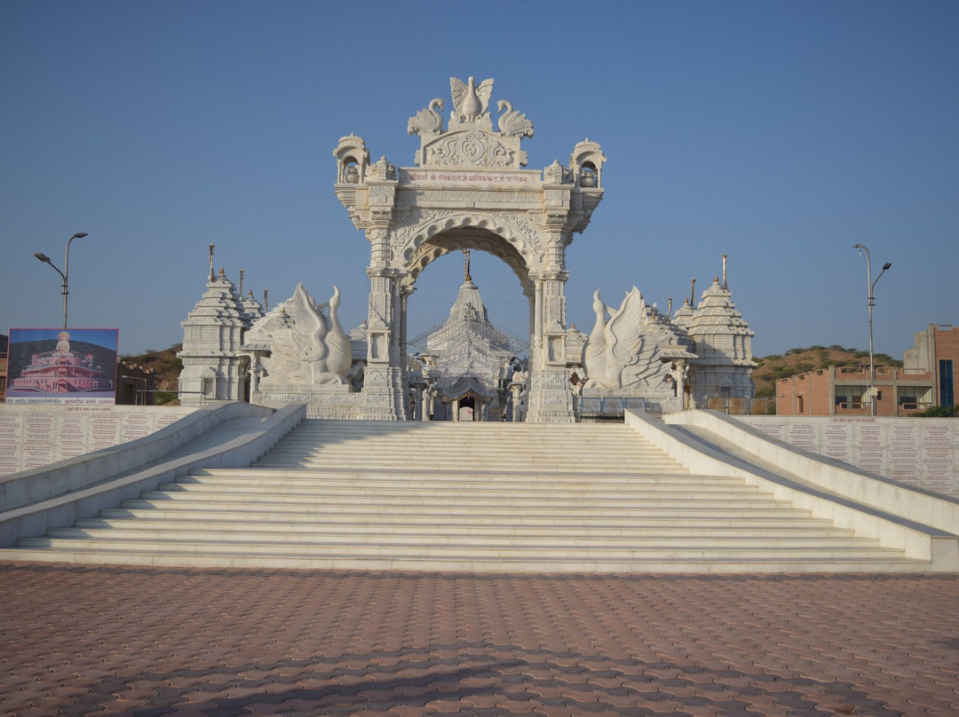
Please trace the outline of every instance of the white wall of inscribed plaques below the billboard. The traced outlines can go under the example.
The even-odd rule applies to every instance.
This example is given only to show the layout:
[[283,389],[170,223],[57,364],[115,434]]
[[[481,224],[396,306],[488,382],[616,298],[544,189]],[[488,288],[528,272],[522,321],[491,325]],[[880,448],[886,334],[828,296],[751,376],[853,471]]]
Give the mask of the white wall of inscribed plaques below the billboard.
[[0,406],[0,475],[143,438],[192,410],[137,405]]

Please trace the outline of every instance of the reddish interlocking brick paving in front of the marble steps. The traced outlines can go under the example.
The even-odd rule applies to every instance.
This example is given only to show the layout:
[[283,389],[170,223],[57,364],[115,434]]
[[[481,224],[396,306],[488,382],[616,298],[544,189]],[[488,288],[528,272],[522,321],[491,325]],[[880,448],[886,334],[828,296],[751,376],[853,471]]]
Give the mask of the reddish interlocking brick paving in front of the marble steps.
[[959,575],[0,566],[0,715],[959,714]]

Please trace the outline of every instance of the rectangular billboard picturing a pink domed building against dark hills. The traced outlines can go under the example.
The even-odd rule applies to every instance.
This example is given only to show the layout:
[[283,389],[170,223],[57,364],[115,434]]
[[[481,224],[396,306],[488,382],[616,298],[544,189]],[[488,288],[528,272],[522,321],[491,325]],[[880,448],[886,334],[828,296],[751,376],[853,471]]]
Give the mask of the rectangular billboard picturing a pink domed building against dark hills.
[[8,404],[114,404],[117,329],[11,329]]

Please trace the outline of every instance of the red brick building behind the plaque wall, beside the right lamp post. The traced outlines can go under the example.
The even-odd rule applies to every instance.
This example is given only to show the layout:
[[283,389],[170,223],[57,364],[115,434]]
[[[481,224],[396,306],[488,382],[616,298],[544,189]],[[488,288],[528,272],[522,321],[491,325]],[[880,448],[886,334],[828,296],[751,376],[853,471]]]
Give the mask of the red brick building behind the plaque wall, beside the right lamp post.
[[[876,415],[908,416],[934,405],[955,405],[954,366],[959,328],[929,324],[903,356],[902,368],[876,368]],[[830,366],[776,383],[781,416],[868,416],[869,369]]]

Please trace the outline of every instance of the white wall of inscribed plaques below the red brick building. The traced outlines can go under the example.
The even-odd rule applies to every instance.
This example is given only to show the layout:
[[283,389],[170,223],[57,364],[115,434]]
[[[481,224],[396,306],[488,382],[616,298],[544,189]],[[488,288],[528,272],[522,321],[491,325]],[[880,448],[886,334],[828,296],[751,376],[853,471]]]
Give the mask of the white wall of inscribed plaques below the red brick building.
[[796,448],[959,497],[959,420],[866,416],[737,416]]

